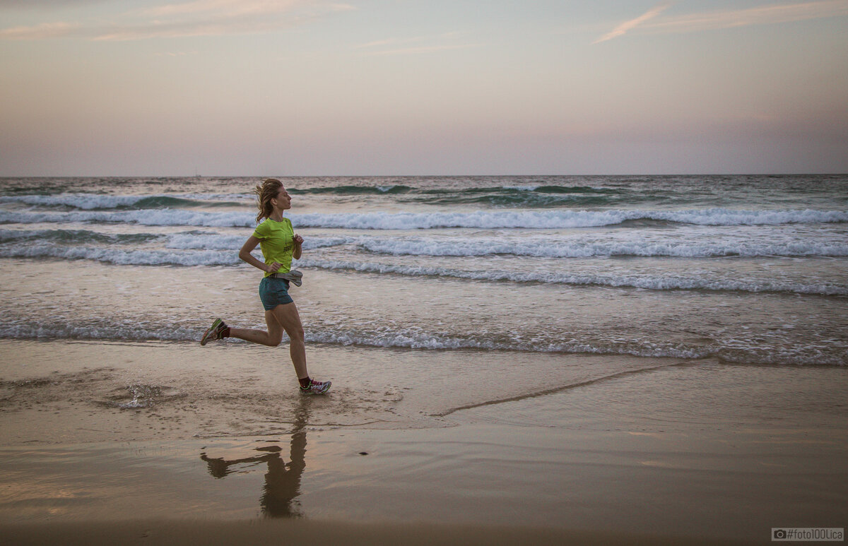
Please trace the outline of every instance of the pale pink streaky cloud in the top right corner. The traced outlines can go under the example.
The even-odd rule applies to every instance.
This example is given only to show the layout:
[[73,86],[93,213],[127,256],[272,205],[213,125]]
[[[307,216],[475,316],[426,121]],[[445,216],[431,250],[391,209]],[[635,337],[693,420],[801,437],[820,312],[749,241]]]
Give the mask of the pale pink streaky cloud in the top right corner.
[[794,21],[841,17],[848,15],[848,0],[820,0],[817,2],[766,4],[756,8],[725,9],[697,14],[657,17],[670,3],[662,3],[647,13],[629,20],[593,43],[605,42],[622,36],[636,27],[639,32],[651,34],[712,31],[750,25],[775,25]]

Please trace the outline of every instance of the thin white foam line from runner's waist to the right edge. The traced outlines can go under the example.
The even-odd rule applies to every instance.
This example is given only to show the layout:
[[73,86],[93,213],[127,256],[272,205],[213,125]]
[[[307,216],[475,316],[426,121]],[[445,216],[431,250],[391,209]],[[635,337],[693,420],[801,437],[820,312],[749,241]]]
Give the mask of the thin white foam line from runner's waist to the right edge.
[[656,275],[573,275],[537,271],[508,270],[455,270],[443,267],[414,265],[388,265],[342,260],[300,259],[298,267],[316,267],[326,270],[353,270],[405,276],[447,276],[479,281],[541,282],[546,284],[595,285],[604,287],[632,287],[647,290],[721,290],[738,292],[792,292],[819,295],[848,295],[848,287],[833,284],[803,284],[781,281],[716,280],[696,276]]

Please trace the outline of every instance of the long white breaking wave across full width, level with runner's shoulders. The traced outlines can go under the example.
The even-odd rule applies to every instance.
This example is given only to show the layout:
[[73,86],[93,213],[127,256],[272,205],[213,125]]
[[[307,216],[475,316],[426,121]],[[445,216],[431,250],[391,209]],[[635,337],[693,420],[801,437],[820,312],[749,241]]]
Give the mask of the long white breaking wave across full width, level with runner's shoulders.
[[[818,209],[787,210],[544,210],[477,211],[453,213],[351,213],[292,214],[296,227],[361,230],[410,230],[433,228],[562,229],[617,226],[628,220],[658,220],[700,226],[758,226],[848,222],[848,211]],[[252,212],[201,212],[178,209],[127,211],[33,212],[0,211],[0,224],[102,222],[143,226],[252,227]]]

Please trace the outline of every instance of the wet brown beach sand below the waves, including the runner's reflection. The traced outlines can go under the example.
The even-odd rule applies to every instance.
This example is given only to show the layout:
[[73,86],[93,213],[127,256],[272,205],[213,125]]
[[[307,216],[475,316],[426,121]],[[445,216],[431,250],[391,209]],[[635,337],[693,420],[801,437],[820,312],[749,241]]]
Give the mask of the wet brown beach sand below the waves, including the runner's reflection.
[[0,341],[3,536],[766,543],[845,526],[844,367],[310,346],[334,386],[301,397],[276,351]]

